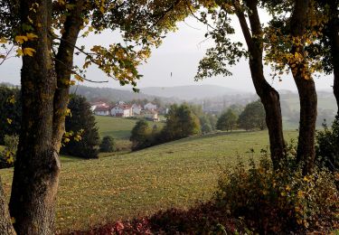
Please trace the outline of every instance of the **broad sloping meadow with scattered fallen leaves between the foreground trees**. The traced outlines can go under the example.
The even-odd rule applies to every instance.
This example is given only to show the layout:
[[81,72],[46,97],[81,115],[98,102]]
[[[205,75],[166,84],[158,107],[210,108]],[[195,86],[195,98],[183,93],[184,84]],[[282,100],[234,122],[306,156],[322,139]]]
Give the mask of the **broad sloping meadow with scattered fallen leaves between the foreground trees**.
[[[286,139],[297,136],[287,131]],[[267,131],[195,136],[96,160],[62,157],[56,227],[85,230],[108,221],[187,208],[212,197],[221,169],[268,146]],[[13,170],[0,170],[10,193]]]

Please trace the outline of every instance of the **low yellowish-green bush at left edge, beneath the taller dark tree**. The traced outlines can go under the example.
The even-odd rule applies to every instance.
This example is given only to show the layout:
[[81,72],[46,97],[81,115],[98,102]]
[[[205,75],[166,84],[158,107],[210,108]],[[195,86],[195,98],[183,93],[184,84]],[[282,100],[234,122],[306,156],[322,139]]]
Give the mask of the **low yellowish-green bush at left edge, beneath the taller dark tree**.
[[5,148],[0,149],[0,168],[14,166],[16,150],[19,144],[19,136],[4,137]]

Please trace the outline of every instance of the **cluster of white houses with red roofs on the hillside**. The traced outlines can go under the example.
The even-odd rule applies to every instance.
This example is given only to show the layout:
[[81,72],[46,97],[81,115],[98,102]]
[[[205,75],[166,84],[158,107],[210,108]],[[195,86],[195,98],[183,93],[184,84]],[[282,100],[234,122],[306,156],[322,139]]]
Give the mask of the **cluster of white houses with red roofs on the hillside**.
[[124,101],[118,101],[115,105],[108,105],[102,101],[90,105],[95,115],[117,118],[145,118],[151,121],[161,121],[160,115],[168,112],[168,108],[158,108],[151,102],[146,103],[144,107],[136,103],[127,104]]

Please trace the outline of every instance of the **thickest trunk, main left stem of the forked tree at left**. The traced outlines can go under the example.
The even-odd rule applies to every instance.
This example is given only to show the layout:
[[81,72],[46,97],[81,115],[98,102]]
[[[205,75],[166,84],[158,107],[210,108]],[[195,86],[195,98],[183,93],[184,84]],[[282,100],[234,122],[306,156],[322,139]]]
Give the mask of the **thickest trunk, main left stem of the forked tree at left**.
[[21,24],[32,25],[38,36],[23,44],[36,52],[23,56],[23,117],[10,200],[14,229],[24,235],[53,233],[61,169],[52,145],[56,75],[48,36],[51,9],[51,0],[22,0],[20,5]]

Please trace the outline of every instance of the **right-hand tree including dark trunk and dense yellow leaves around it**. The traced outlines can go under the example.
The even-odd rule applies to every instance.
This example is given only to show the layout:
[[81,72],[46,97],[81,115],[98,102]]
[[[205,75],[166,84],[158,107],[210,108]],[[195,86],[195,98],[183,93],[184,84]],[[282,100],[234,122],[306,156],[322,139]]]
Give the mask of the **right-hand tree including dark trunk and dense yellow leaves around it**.
[[308,174],[315,164],[317,96],[313,73],[323,70],[321,52],[313,49],[326,20],[316,14],[313,0],[268,1],[268,9],[281,12],[268,27],[267,59],[278,74],[291,71],[296,82],[300,101],[297,162]]

